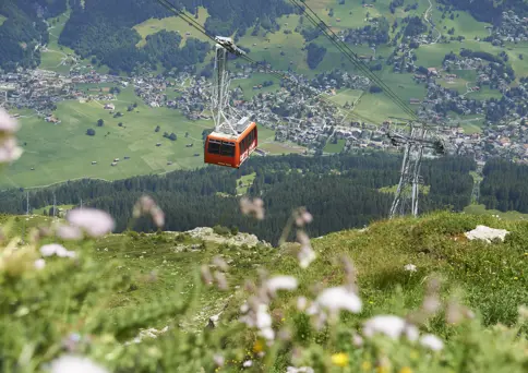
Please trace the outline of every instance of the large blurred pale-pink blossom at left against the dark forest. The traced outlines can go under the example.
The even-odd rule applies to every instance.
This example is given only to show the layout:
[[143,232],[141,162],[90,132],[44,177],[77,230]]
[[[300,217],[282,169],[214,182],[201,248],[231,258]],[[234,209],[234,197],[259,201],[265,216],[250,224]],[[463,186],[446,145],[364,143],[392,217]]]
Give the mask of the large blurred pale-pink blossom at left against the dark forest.
[[113,230],[116,224],[112,217],[100,209],[75,208],[68,213],[67,220],[82,228],[91,237],[105,236]]

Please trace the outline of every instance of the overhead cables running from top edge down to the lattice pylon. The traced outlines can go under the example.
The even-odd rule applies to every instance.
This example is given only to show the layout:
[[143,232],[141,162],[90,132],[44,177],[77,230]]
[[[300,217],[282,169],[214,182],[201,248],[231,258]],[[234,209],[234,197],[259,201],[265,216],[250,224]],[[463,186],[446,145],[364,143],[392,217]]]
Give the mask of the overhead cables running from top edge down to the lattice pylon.
[[[295,4],[297,8],[299,8],[302,13],[307,16],[307,19],[315,26],[319,27],[323,34],[337,47],[337,49],[344,53],[350,62],[359,68],[363,73],[368,75],[372,81],[374,81],[376,84],[379,84],[381,87],[384,88],[385,94],[392,98],[393,103],[395,103],[400,109],[403,109],[406,113],[410,115],[415,119],[418,119],[417,115],[412,109],[410,109],[400,98],[398,95],[396,95],[376,74],[374,74],[370,68],[359,59],[359,57],[348,47],[346,43],[339,39],[339,37],[332,31],[326,23],[321,20],[321,17],[303,1],[298,1],[298,0],[289,0],[292,4]],[[302,5],[299,3],[302,2]],[[307,9],[313,14],[310,15],[307,12]],[[319,21],[319,22],[317,22]],[[331,36],[326,29],[332,33],[333,36]],[[339,44],[340,41],[340,44]]]

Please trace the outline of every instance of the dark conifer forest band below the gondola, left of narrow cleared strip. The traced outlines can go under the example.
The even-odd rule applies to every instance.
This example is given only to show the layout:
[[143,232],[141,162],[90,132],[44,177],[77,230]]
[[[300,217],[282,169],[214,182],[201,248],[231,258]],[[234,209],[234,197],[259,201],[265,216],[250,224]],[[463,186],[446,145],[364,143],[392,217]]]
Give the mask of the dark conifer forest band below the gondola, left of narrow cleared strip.
[[[307,206],[315,219],[312,236],[352,227],[362,227],[384,218],[392,203],[391,193],[377,190],[397,184],[401,158],[383,153],[339,155],[331,157],[255,157],[239,170],[206,167],[175,171],[165,176],[142,176],[104,182],[72,181],[55,188],[29,191],[32,208],[58,204],[103,208],[117,219],[117,231],[127,229],[133,204],[143,194],[153,195],[165,210],[167,230],[188,230],[215,225],[236,226],[273,243],[281,234],[291,210]],[[431,185],[422,195],[420,208],[425,210],[451,206],[456,210],[469,204],[472,181],[468,175],[475,163],[465,158],[427,160],[423,179]],[[254,221],[241,216],[236,195],[237,180],[255,173],[249,194],[264,200],[267,218]],[[0,212],[25,213],[25,192],[4,191]],[[139,231],[153,229],[148,219],[132,226]]]

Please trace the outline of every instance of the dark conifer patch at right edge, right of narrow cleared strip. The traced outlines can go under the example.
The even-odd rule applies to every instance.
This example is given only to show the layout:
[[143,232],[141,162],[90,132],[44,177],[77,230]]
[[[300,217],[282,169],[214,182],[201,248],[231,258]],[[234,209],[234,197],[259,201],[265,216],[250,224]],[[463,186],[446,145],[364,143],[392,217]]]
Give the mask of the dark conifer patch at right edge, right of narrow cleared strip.
[[482,172],[480,202],[487,208],[528,213],[528,166],[491,159]]

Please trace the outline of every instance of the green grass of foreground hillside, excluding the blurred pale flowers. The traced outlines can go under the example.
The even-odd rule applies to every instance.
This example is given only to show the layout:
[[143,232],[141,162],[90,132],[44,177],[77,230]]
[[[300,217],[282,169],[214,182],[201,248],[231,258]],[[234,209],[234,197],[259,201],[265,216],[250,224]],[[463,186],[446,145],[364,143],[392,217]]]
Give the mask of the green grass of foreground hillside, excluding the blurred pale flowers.
[[[20,231],[23,225],[27,231],[29,226],[49,222],[32,217],[19,217],[19,221],[2,218],[4,226],[9,226],[10,220],[14,224],[13,231]],[[481,224],[505,228],[511,233],[503,243],[487,244],[465,239],[464,232]],[[250,371],[255,372],[285,371],[287,365],[292,364],[310,365],[324,372],[341,371],[339,366],[370,372],[374,371],[376,362],[385,365],[389,372],[401,372],[404,369],[405,372],[480,372],[492,365],[494,371],[506,369],[508,372],[521,372],[528,363],[527,345],[523,335],[517,335],[523,324],[516,323],[517,306],[526,302],[528,297],[528,278],[524,270],[528,261],[524,239],[527,232],[526,222],[466,214],[437,213],[418,219],[380,221],[367,230],[343,231],[312,240],[317,258],[307,269],[300,268],[297,263],[296,244],[279,249],[262,244],[235,246],[213,242],[211,238],[193,239],[176,232],[130,232],[100,238],[95,241],[93,249],[88,249],[86,243],[83,244],[84,249],[75,243],[65,243],[68,249],[81,254],[76,264],[79,268],[67,272],[75,265],[68,258],[47,260],[49,268],[46,267],[44,274],[53,273],[62,279],[55,288],[48,285],[57,281],[53,277],[44,277],[41,284],[38,282],[40,285],[31,282],[34,277],[15,281],[33,284],[33,287],[24,288],[28,294],[36,291],[38,286],[45,293],[62,292],[59,303],[56,303],[59,298],[49,298],[50,304],[62,306],[51,309],[46,314],[47,317],[56,316],[57,323],[51,324],[46,342],[40,342],[40,348],[49,350],[49,354],[32,359],[35,364],[58,356],[51,351],[64,336],[61,330],[68,330],[79,332],[81,336],[91,333],[92,349],[88,350],[85,345],[79,345],[77,348],[99,363],[113,369],[123,369],[133,363],[142,372],[154,372],[156,365],[168,370],[178,364],[180,368],[187,366],[184,371],[193,371],[196,366],[214,369],[214,353],[220,353],[227,360],[221,369],[225,372],[239,371],[242,362],[248,360],[253,361]],[[225,234],[215,236],[214,240],[230,238],[229,233]],[[218,264],[212,264],[212,260],[217,255],[229,264],[225,272],[229,289],[224,291],[216,286],[202,288],[194,277],[200,265],[216,270]],[[346,281],[344,255],[353,263],[362,310],[356,315],[343,313],[337,324],[317,332],[310,318],[297,311],[297,298],[304,296],[311,299],[313,291]],[[413,270],[405,269],[409,264],[416,266]],[[113,268],[113,272],[104,268]],[[267,347],[256,332],[242,328],[238,321],[240,305],[251,294],[248,291],[250,287],[240,286],[244,280],[256,280],[257,269],[264,268],[269,272],[268,276],[289,275],[298,279],[298,290],[274,297],[269,309],[273,328],[289,330],[290,345],[283,345],[281,339],[277,339],[273,347]],[[86,281],[96,273],[96,284],[92,288],[86,287],[89,284]],[[418,310],[424,296],[433,296],[431,289],[429,292],[424,289],[433,276],[442,278],[439,294],[441,311],[418,325],[422,333],[432,333],[444,340],[444,350],[428,352],[405,338],[397,341],[381,337],[372,340],[364,338],[358,345],[355,337],[356,346],[350,344],[355,330],[363,333],[361,325],[367,318],[380,314],[405,316],[411,310]],[[111,281],[117,281],[115,286],[120,284],[118,288],[121,290],[112,290]],[[64,298],[64,293],[76,294],[76,298]],[[10,299],[21,297],[21,304],[29,299],[35,301],[22,293],[15,294],[10,293]],[[456,303],[454,296],[458,297]],[[82,302],[82,308],[77,301]],[[194,303],[189,313],[182,305],[190,301]],[[46,306],[38,302],[33,304]],[[458,322],[447,324],[444,306],[448,304],[466,304],[477,318],[461,325]],[[76,323],[86,313],[91,314],[86,324]],[[218,313],[218,327],[204,329],[208,317]],[[461,314],[459,316],[464,317]],[[14,316],[10,317],[13,325],[20,327],[21,322]],[[449,318],[453,317],[451,313],[447,313],[447,317],[454,320]],[[43,320],[33,317],[25,327],[37,327],[40,322]],[[503,326],[494,327],[497,323]],[[140,328],[155,327],[159,330],[166,325],[170,326],[169,330],[157,339],[145,337],[140,345],[129,347],[119,344],[130,340]],[[31,341],[36,330],[24,337],[20,333],[11,334],[10,340],[25,338]],[[195,334],[199,330],[203,333]],[[523,330],[520,328],[520,333]],[[502,341],[501,348],[496,345],[497,338]],[[116,350],[118,345],[119,352]],[[187,346],[195,353],[200,351],[200,356],[190,359],[185,348],[175,346]],[[292,346],[304,353],[290,354]],[[466,348],[471,348],[471,353],[457,358],[456,351]],[[10,349],[16,351],[17,348],[10,345]],[[117,353],[115,358],[110,358],[111,351]],[[260,356],[260,351],[265,351],[265,354]],[[133,356],[137,353],[141,358],[134,359]],[[9,359],[4,360],[4,363],[9,362]]]

